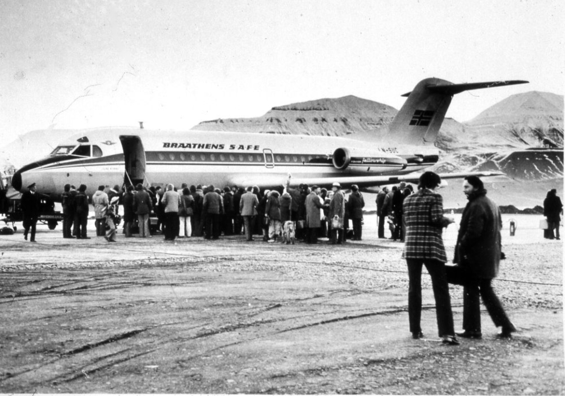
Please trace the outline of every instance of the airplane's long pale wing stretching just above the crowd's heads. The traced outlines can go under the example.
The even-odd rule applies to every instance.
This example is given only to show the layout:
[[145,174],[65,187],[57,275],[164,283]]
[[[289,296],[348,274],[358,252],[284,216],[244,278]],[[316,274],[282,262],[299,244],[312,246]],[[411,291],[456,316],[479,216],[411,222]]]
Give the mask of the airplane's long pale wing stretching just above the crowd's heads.
[[[290,186],[299,186],[299,184],[308,184],[308,186],[331,187],[332,183],[339,182],[342,187],[349,188],[351,184],[357,184],[358,187],[375,187],[385,186],[387,184],[396,184],[399,182],[407,182],[417,184],[422,173],[408,173],[406,175],[375,175],[375,176],[338,176],[336,177],[320,177],[320,178],[294,178],[289,175],[288,178],[281,178],[280,181],[268,180],[264,175],[257,175],[257,177],[245,179],[237,178],[232,179],[231,183],[237,186],[258,186],[260,188],[273,188],[280,187],[289,181]],[[482,172],[454,172],[454,173],[439,173],[442,179],[462,179],[466,176],[502,176],[505,173],[498,171],[482,171]]]

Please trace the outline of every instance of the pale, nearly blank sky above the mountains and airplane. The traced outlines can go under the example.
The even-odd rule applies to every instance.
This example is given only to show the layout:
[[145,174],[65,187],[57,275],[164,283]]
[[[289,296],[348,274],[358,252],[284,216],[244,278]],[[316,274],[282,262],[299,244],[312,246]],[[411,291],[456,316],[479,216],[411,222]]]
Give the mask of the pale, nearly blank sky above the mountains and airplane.
[[355,95],[395,108],[423,78],[528,80],[455,96],[463,122],[563,95],[562,0],[0,3],[0,147],[36,129],[188,130]]

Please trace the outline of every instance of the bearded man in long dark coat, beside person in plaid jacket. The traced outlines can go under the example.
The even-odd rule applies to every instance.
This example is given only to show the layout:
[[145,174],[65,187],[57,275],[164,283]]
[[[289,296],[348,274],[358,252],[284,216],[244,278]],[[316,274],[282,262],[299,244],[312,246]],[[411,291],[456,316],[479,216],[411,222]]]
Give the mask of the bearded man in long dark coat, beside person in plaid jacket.
[[516,328],[510,322],[491,282],[498,275],[501,256],[502,218],[498,206],[486,197],[483,182],[467,176],[463,192],[469,202],[461,217],[454,263],[464,273],[463,332],[461,337],[481,338],[480,296],[494,325],[502,327],[501,337],[510,337]]

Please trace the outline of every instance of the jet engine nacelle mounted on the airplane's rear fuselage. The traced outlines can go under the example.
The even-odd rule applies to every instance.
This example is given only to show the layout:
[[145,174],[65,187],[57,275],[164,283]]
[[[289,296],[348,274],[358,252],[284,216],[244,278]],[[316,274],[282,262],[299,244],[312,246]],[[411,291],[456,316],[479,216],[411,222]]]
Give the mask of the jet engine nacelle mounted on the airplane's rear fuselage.
[[402,170],[407,161],[399,156],[381,151],[370,151],[358,148],[337,148],[333,152],[333,166],[344,170],[349,168],[359,172],[385,173]]

